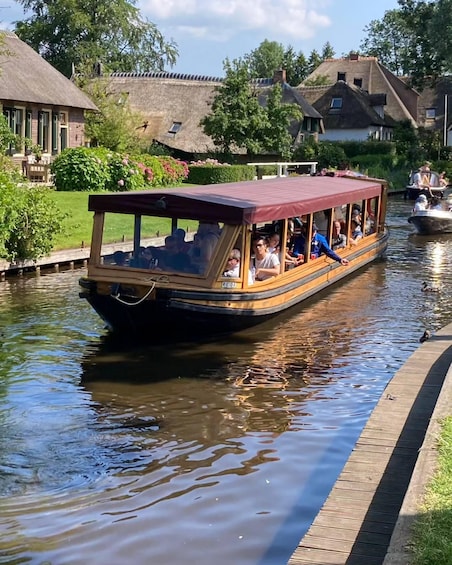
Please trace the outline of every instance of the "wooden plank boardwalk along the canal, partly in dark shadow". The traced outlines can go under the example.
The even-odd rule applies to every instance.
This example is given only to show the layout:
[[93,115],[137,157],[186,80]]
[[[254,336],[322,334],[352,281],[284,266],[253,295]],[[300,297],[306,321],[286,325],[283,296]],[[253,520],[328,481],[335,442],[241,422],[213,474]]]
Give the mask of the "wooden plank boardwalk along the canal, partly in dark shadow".
[[[388,383],[289,565],[382,565],[395,530],[398,553],[391,564],[408,565],[407,528],[397,525],[406,495],[418,501],[431,474],[430,469],[423,482],[418,477],[410,486],[415,466],[422,464],[419,452],[431,453],[424,443],[434,443],[426,435],[430,421],[445,415],[434,410],[440,393],[452,387],[451,363],[452,324],[420,345]],[[450,405],[447,409],[452,413]]]

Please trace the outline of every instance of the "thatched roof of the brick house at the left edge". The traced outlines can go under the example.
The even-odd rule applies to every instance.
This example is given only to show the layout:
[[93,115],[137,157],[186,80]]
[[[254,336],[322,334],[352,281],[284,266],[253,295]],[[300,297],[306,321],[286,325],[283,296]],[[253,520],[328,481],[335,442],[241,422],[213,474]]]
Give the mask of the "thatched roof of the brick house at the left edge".
[[0,100],[97,110],[73,82],[10,31],[0,31],[7,54],[0,62]]

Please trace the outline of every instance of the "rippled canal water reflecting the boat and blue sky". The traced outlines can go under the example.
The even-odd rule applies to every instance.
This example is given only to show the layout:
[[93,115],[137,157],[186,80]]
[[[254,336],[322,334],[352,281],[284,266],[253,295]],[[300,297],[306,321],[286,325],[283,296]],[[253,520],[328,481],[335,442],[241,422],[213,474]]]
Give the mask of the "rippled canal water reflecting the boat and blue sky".
[[286,563],[385,385],[451,322],[452,237],[414,235],[411,206],[390,200],[384,260],[211,343],[112,342],[83,271],[0,283],[0,563]]

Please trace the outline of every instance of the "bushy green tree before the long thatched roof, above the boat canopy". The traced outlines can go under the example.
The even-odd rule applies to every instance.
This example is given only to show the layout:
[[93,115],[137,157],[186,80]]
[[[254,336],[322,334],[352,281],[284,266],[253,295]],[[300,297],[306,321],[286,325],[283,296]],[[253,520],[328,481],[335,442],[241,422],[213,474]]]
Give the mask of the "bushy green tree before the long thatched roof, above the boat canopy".
[[292,120],[302,115],[295,104],[282,103],[282,87],[275,85],[267,95],[253,89],[247,62],[226,59],[225,80],[216,89],[212,111],[201,120],[204,132],[215,145],[231,158],[236,150],[245,149],[249,155],[259,152],[289,157],[293,143],[289,133]]

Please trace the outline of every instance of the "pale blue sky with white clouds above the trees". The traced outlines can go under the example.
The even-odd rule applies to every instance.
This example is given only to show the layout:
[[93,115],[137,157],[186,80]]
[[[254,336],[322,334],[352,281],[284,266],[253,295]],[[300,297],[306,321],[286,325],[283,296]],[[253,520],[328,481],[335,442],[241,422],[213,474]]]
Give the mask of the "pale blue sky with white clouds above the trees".
[[[141,16],[173,40],[179,56],[165,70],[224,76],[223,62],[257,49],[265,39],[291,45],[306,57],[329,42],[336,57],[358,50],[364,28],[397,0],[137,0]],[[0,0],[0,28],[24,18],[14,0]]]

